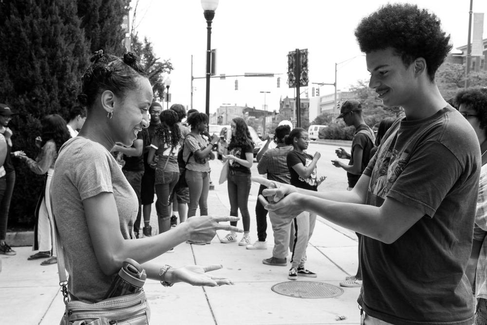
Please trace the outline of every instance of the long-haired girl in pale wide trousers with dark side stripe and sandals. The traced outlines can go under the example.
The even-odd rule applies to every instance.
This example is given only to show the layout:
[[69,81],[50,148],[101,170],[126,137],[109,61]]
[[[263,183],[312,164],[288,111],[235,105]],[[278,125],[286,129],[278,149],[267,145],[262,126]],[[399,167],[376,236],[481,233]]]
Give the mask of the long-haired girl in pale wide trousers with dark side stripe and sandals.
[[[19,158],[27,164],[32,172],[46,175],[44,190],[39,196],[36,207],[36,227],[34,229],[34,245],[32,250],[39,250],[31,255],[28,260],[48,258],[40,265],[56,264],[57,258],[53,256],[53,213],[51,211],[51,179],[54,173],[57,151],[71,135],[66,121],[59,115],[47,115],[42,120],[41,152],[36,160],[20,154]],[[37,140],[37,139],[36,139]]]

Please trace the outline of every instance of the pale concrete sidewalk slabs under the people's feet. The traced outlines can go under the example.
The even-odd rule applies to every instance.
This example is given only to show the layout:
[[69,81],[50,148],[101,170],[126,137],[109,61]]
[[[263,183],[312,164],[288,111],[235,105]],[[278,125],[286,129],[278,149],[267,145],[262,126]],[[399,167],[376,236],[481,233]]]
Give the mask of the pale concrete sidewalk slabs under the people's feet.
[[[212,162],[215,191],[208,197],[209,213],[228,215],[229,202],[226,183],[218,185],[221,163]],[[255,204],[259,186],[252,185],[248,207],[251,215],[251,239],[257,240]],[[157,229],[155,207],[151,224]],[[239,226],[242,223],[239,222]],[[154,230],[153,230],[154,231]],[[150,324],[171,325],[317,325],[359,324],[360,313],[356,299],[360,288],[342,288],[343,294],[333,298],[302,299],[278,294],[271,290],[276,284],[290,282],[287,267],[262,264],[272,256],[273,237],[270,222],[267,229],[268,249],[248,250],[238,243],[221,244],[219,231],[211,245],[197,246],[183,243],[171,254],[163,254],[156,261],[180,267],[187,264],[222,264],[214,274],[233,279],[234,286],[191,287],[176,284],[162,287],[148,280],[144,286],[151,309]],[[242,235],[239,234],[239,240]],[[41,260],[27,261],[31,247],[15,248],[17,255],[1,255],[0,273],[1,324],[57,325],[64,312],[59,292],[57,268],[40,266]],[[355,233],[325,222],[318,217],[315,232],[309,243],[306,267],[318,278],[299,277],[297,282],[323,282],[339,287],[346,275],[357,268],[357,239]],[[288,256],[288,260],[290,256]],[[346,319],[337,320],[338,316]]]

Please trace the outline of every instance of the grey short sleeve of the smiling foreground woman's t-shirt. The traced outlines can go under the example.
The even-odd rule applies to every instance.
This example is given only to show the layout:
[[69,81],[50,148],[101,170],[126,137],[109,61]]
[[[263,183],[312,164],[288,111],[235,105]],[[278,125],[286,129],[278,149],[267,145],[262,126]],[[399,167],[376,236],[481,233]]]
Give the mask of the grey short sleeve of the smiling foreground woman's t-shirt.
[[101,192],[113,192],[112,168],[112,157],[106,150],[102,152],[89,144],[83,146],[74,160],[74,184],[81,200]]

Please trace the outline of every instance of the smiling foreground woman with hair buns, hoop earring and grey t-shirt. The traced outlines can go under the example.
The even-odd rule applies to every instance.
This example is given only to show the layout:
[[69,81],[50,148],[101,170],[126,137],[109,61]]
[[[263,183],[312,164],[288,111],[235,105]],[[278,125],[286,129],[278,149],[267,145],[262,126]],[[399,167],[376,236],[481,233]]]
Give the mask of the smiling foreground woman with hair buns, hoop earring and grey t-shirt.
[[115,143],[130,147],[149,126],[152,87],[136,58],[131,52],[123,58],[94,53],[78,96],[87,108],[85,124],[61,147],[53,175],[53,214],[69,273],[67,290],[85,303],[104,298],[126,258],[163,286],[232,284],[206,273],[221,266],[171,268],[151,260],[188,239],[207,240],[217,229],[235,229],[219,224],[235,218],[194,217],[172,231],[135,240],[137,196],[110,151]]

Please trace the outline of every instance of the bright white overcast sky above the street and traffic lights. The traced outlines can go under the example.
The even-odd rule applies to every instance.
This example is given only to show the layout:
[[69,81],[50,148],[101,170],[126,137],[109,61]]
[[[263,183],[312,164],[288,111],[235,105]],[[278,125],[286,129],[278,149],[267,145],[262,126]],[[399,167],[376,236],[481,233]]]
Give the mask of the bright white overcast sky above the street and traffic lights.
[[[451,34],[454,48],[467,44],[469,0],[408,2],[436,14],[443,29]],[[287,53],[296,48],[309,51],[310,83],[333,83],[335,63],[355,56],[359,57],[338,65],[338,89],[347,90],[357,79],[368,78],[354,29],[362,17],[384,3],[383,0],[220,0],[211,34],[211,48],[218,53],[217,75],[282,74],[281,88],[277,88],[277,77],[238,77],[237,91],[235,77],[211,78],[210,113],[224,104],[247,104],[261,109],[264,104],[261,91],[270,92],[265,98],[268,109],[279,110],[281,96],[294,96],[294,89],[286,84],[286,71]],[[131,5],[135,5],[135,0]],[[473,0],[473,12],[486,13],[487,0]],[[156,55],[170,59],[174,66],[169,89],[172,103],[189,107],[191,55],[193,76],[205,76],[206,69],[206,20],[201,1],[140,0],[137,16],[139,36],[147,36]],[[487,38],[487,22],[483,37]],[[193,86],[196,88],[193,108],[204,112],[206,81],[196,79]],[[334,88],[322,86],[320,92],[331,94]]]

